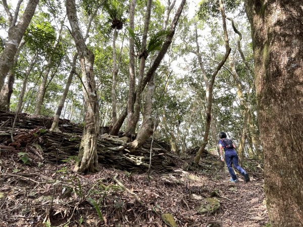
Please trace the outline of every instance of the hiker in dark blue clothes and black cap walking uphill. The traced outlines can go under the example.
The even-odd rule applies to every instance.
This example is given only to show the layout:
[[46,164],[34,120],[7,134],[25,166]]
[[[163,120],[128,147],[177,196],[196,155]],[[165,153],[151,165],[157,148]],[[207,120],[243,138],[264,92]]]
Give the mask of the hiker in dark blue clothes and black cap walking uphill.
[[240,174],[242,174],[244,176],[244,181],[247,182],[249,181],[249,176],[248,174],[244,171],[244,169],[239,165],[238,162],[238,155],[237,152],[235,150],[236,145],[230,140],[226,138],[226,134],[225,132],[220,132],[219,134],[219,148],[220,148],[220,157],[221,157],[221,161],[224,161],[224,157],[223,157],[223,149],[225,152],[225,162],[229,171],[229,174],[231,176],[230,181],[231,182],[238,182],[237,176],[231,166],[231,164],[234,165],[234,167],[236,169],[238,169],[238,171],[240,172]]

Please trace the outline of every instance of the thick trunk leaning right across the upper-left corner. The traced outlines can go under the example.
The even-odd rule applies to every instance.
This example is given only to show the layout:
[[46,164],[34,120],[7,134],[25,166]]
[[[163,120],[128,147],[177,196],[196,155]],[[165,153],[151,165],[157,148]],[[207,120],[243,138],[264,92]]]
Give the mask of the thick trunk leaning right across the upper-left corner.
[[29,0],[19,23],[17,25],[13,23],[9,28],[8,42],[0,57],[0,88],[3,87],[5,78],[13,66],[18,46],[35,13],[38,2],[39,0]]

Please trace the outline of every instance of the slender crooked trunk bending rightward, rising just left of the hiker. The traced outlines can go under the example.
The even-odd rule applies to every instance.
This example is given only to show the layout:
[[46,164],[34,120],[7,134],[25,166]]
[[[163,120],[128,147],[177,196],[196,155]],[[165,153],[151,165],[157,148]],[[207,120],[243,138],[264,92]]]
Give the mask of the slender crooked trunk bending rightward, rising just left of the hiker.
[[198,152],[196,153],[196,156],[194,157],[195,164],[199,163],[201,155],[202,155],[203,151],[205,150],[205,147],[208,143],[208,135],[210,133],[211,120],[212,120],[211,116],[212,116],[212,105],[213,105],[213,86],[214,86],[215,78],[216,78],[217,74],[219,73],[220,69],[225,64],[225,62],[229,56],[229,53],[231,51],[231,48],[229,47],[229,42],[228,42],[228,33],[227,33],[227,28],[226,28],[226,19],[225,19],[223,3],[222,3],[222,0],[220,0],[219,2],[220,2],[220,12],[221,12],[221,16],[222,16],[222,24],[223,24],[223,31],[224,31],[224,37],[225,37],[226,52],[224,54],[222,61],[219,63],[219,65],[216,67],[214,73],[212,74],[211,81],[209,82],[209,92],[207,92],[205,132],[204,132],[204,136],[203,136],[203,142],[202,142]]

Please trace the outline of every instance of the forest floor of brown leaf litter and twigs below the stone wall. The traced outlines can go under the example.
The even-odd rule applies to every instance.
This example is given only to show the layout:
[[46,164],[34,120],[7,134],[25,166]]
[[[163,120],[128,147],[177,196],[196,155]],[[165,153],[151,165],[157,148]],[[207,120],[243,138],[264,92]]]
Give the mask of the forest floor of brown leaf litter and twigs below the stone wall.
[[150,178],[103,166],[99,173],[80,175],[72,172],[73,160],[26,165],[9,151],[0,158],[1,227],[173,226],[164,221],[164,213],[173,215],[176,226],[255,227],[268,222],[263,175],[258,173],[262,168],[253,160],[245,164],[250,181],[239,177],[231,183],[223,162],[210,153],[196,171],[176,167],[167,174],[151,172]]

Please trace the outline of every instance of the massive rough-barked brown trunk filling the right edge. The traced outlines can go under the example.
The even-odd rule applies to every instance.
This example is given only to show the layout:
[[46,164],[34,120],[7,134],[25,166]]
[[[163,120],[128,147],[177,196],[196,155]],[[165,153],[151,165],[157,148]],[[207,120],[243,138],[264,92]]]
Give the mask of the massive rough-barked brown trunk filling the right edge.
[[265,195],[275,226],[303,226],[302,1],[246,0],[255,55]]

